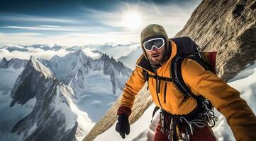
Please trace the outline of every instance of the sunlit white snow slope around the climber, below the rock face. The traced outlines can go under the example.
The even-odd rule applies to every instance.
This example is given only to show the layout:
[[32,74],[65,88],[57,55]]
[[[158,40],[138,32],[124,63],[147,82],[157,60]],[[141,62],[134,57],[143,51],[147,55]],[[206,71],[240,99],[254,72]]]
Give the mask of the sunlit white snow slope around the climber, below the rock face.
[[[228,82],[228,85],[234,87],[236,90],[240,91],[241,97],[247,101],[247,104],[251,107],[252,111],[256,114],[256,61],[254,64],[247,66],[245,70],[238,73],[232,80]],[[152,118],[152,111],[155,105],[152,104],[140,117],[138,121],[130,125],[130,135],[126,136],[125,140],[153,140],[155,123],[157,123],[157,118],[155,122],[150,125]],[[213,128],[213,132],[219,141],[235,140],[233,133],[231,132],[226,119],[216,111],[218,116],[218,123]],[[101,140],[123,140],[121,136],[115,130],[116,123],[113,124],[111,128],[106,130],[103,134],[96,137],[96,141]],[[149,138],[148,138],[149,137]]]

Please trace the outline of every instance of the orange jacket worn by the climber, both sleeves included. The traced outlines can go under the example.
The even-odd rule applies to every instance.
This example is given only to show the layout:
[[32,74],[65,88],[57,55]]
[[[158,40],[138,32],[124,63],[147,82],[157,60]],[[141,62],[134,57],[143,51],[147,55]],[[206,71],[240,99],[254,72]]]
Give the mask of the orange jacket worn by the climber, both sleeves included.
[[[169,68],[172,58],[177,54],[177,46],[171,41],[172,54],[160,68],[157,69],[157,75],[170,78]],[[141,90],[145,83],[143,69],[148,69],[140,65],[143,55],[137,61],[137,66],[126,82],[123,90],[121,106],[118,113],[130,114],[127,110],[132,109],[135,95]],[[148,71],[149,74],[155,75]],[[185,59],[182,62],[182,77],[191,91],[196,95],[202,95],[208,99],[213,106],[226,117],[228,125],[233,130],[236,140],[256,140],[256,117],[244,99],[240,98],[240,92],[230,87],[221,78],[218,78],[210,71],[206,71],[196,61]],[[165,81],[160,81],[161,85],[165,85]],[[167,82],[166,95],[164,95],[165,87],[160,88],[160,93],[156,92],[156,80],[149,78],[148,87],[153,102],[165,111],[171,114],[189,114],[196,107],[196,99],[189,97],[184,101],[184,94],[180,92],[172,82]]]

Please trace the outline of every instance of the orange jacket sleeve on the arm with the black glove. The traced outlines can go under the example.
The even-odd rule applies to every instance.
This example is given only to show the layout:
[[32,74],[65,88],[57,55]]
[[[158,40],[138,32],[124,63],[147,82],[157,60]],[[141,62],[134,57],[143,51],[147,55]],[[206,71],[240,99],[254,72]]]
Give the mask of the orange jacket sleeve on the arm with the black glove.
[[142,89],[145,78],[143,77],[143,70],[136,66],[132,75],[126,82],[126,87],[123,90],[121,105],[118,108],[118,115],[126,114],[130,116],[133,103],[135,101],[135,95]]

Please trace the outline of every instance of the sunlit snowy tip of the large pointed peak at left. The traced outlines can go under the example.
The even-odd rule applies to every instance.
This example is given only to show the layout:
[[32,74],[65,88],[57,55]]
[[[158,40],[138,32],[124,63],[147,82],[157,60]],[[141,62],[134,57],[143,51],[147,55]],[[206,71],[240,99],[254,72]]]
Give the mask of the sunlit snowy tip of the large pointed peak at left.
[[28,66],[33,66],[36,71],[43,74],[45,78],[53,78],[52,72],[46,68],[38,59],[35,58],[35,56],[31,56],[30,60],[28,61]]

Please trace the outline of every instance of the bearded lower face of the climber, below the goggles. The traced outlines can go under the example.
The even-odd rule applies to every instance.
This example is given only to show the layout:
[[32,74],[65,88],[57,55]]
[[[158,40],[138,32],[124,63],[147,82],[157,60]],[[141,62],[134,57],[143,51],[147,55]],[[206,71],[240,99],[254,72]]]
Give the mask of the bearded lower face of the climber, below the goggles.
[[165,53],[165,46],[161,47],[160,49],[157,49],[156,47],[153,47],[152,51],[147,51],[145,50],[148,60],[152,65],[160,65],[165,58],[164,58],[164,53]]

